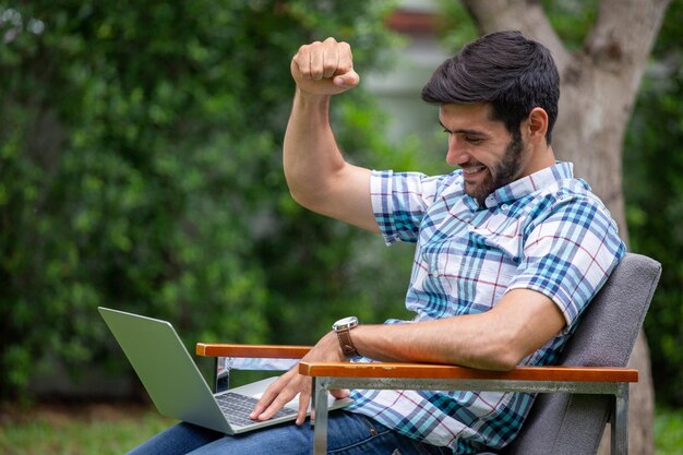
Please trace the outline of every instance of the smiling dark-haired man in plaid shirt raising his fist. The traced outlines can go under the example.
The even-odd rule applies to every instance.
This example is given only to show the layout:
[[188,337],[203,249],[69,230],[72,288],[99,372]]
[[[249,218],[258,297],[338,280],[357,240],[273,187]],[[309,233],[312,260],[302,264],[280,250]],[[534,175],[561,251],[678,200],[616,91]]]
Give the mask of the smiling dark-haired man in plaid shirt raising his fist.
[[[516,32],[495,33],[434,72],[422,98],[439,105],[446,161],[459,167],[438,177],[370,171],[344,159],[328,107],[332,96],[359,83],[347,44],[302,46],[290,70],[297,91],[284,168],[292,196],[387,243],[417,243],[406,297],[415,320],[359,324],[339,337],[331,332],[304,359],[493,370],[552,363],[624,246],[602,203],[553,155],[559,75],[548,49]],[[298,393],[296,426],[229,438],[181,424],[152,441],[187,443],[175,453],[267,446],[307,454],[311,432],[301,426],[311,383],[297,369],[268,388],[251,417],[267,420]],[[328,450],[338,454],[496,450],[514,439],[534,400],[511,393],[335,392],[349,393],[355,404],[331,415]]]

